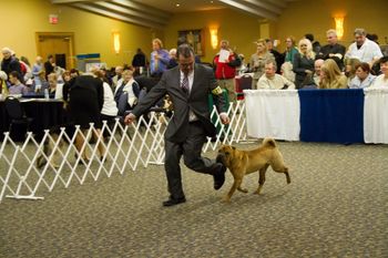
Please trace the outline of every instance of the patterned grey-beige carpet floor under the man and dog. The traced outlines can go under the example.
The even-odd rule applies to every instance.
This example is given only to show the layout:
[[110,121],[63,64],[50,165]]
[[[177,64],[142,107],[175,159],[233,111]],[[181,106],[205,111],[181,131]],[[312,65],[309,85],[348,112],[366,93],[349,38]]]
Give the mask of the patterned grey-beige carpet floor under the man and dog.
[[[256,144],[239,145],[253,148]],[[0,257],[388,257],[388,146],[279,143],[292,184],[270,169],[232,185],[183,168],[187,203],[164,208],[164,169],[0,204]],[[214,157],[215,153],[208,153]]]

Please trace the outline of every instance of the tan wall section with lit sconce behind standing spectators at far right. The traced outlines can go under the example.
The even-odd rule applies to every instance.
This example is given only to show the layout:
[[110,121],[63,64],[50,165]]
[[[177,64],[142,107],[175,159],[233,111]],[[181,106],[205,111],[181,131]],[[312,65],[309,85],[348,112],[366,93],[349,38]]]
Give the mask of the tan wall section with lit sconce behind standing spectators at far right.
[[[388,37],[387,0],[302,0],[288,3],[276,22],[275,35],[284,39],[294,35],[299,40],[305,33],[310,32],[321,44],[326,43],[326,31],[335,29],[334,16],[344,14],[344,39],[346,47],[354,40],[353,32],[356,28],[364,28],[367,32],[376,33],[380,43],[385,43]],[[284,43],[282,42],[282,47]]]

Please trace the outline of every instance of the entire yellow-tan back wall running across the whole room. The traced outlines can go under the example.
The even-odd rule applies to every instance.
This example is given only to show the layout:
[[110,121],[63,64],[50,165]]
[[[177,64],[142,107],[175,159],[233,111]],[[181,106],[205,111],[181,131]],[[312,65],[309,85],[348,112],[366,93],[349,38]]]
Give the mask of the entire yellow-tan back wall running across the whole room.
[[[18,55],[25,55],[32,62],[37,55],[35,32],[74,32],[75,53],[101,53],[102,62],[110,66],[130,63],[134,51],[141,47],[149,55],[152,37],[164,40],[165,48],[176,47],[177,31],[204,29],[205,55],[203,61],[211,62],[218,49],[213,50],[210,28],[218,28],[218,40],[227,39],[238,53],[249,56],[255,52],[253,41],[270,35],[284,40],[293,34],[300,39],[306,32],[315,34],[321,43],[326,42],[325,32],[334,27],[333,16],[345,14],[344,44],[353,40],[353,30],[363,27],[379,35],[380,43],[388,37],[385,12],[388,0],[300,0],[288,3],[283,14],[268,25],[251,14],[222,9],[203,12],[178,13],[172,17],[164,31],[120,22],[73,8],[51,4],[50,0],[0,0],[2,37],[0,48],[10,47]],[[59,24],[49,23],[49,14],[59,16]],[[262,30],[262,31],[261,31]],[[113,52],[112,32],[120,31],[122,52]]]

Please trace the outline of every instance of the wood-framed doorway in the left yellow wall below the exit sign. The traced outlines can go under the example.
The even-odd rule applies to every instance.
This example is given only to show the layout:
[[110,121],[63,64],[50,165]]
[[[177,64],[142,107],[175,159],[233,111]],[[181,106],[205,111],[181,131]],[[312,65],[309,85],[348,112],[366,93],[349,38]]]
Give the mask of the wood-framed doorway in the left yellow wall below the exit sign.
[[74,33],[37,32],[37,52],[45,62],[52,54],[57,65],[70,70],[74,66]]

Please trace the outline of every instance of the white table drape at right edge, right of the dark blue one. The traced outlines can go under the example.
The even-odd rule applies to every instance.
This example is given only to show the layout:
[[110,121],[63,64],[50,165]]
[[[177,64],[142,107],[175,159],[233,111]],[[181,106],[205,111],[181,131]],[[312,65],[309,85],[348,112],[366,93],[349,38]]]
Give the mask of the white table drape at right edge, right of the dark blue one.
[[364,89],[364,141],[388,144],[388,89]]

